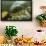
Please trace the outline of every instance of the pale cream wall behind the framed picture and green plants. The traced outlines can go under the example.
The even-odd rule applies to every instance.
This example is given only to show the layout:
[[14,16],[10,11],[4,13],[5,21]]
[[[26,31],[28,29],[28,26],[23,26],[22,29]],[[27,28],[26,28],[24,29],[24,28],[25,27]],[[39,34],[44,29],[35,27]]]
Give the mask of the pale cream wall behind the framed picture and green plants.
[[31,36],[32,32],[35,32],[37,29],[46,30],[46,28],[40,27],[35,20],[36,15],[42,13],[40,6],[46,5],[46,0],[33,0],[32,3],[32,21],[0,21],[0,35],[4,34],[6,25],[16,26],[19,31],[18,36],[21,36],[22,34],[24,36]]

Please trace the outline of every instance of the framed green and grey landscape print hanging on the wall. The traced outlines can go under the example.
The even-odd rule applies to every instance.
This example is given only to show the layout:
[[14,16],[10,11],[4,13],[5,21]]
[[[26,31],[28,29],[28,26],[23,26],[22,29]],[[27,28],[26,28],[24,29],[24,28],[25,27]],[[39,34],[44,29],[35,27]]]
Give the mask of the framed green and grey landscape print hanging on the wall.
[[32,0],[2,0],[1,21],[31,21]]

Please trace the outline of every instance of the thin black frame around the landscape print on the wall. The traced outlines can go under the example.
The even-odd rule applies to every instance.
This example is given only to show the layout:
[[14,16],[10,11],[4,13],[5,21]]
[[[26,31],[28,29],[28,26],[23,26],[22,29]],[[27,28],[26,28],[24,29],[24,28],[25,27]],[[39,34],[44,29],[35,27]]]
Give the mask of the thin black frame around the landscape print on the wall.
[[[2,10],[2,8],[3,8],[2,3],[3,3],[3,1],[8,2],[8,0],[1,0],[1,21],[32,21],[32,0],[25,0],[25,1],[27,1],[27,5],[28,5],[28,1],[30,2],[30,7],[31,7],[31,9],[30,9],[30,19],[27,19],[27,20],[26,20],[26,19],[22,19],[22,20],[14,20],[14,19],[11,20],[11,19],[10,19],[10,20],[8,20],[7,17],[9,17],[9,16],[8,16],[9,14],[7,14],[7,17],[5,17],[5,19],[3,19],[3,18],[2,18],[2,16],[3,16],[3,15],[2,15],[2,11],[3,11],[3,10]],[[11,1],[12,1],[12,0],[11,0]],[[10,2],[11,2],[11,1],[10,1]],[[15,2],[15,1],[16,1],[16,0],[14,0],[14,2]],[[17,1],[23,1],[23,0],[17,0]],[[6,3],[6,2],[5,2],[5,3]],[[8,12],[9,12],[9,11],[8,11]],[[14,13],[14,12],[13,12],[13,13]],[[28,18],[28,17],[27,17],[27,18]]]

